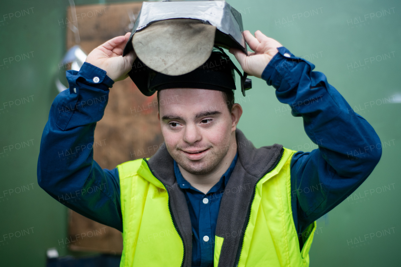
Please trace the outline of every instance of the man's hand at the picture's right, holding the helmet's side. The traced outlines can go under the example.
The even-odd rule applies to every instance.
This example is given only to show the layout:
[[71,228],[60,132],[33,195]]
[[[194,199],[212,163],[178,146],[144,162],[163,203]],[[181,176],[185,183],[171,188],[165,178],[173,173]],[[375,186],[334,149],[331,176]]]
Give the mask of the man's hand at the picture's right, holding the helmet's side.
[[255,52],[248,51],[248,55],[245,55],[241,50],[234,48],[230,48],[229,52],[235,56],[243,71],[248,73],[249,76],[261,78],[263,70],[277,54],[277,48],[282,47],[282,45],[264,35],[260,30],[255,32],[255,37],[249,30],[244,30],[243,34],[245,42]]

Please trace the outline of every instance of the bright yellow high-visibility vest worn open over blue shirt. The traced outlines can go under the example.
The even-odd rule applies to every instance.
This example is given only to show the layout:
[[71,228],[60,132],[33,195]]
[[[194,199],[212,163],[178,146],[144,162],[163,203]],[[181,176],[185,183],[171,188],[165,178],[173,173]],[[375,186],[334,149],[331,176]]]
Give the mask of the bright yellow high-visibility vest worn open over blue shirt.
[[[237,254],[238,267],[309,266],[308,253],[316,221],[304,232],[307,239],[300,251],[291,209],[290,161],[294,153],[284,148],[277,165],[255,185],[249,220]],[[165,184],[154,176],[145,159],[125,162],[117,168],[124,240],[120,267],[182,266],[184,253],[192,248],[184,247]],[[224,266],[220,257],[224,238],[215,236],[215,267]]]

